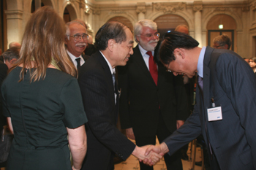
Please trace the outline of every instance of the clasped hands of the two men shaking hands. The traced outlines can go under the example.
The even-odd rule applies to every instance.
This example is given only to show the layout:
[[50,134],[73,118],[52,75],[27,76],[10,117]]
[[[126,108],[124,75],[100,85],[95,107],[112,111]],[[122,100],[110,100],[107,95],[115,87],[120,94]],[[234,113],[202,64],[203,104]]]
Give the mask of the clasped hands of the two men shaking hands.
[[143,147],[135,147],[132,155],[139,158],[139,161],[143,161],[143,163],[148,164],[149,166],[153,166],[156,164],[165,153],[169,152],[169,149],[165,142],[159,145],[146,145]]

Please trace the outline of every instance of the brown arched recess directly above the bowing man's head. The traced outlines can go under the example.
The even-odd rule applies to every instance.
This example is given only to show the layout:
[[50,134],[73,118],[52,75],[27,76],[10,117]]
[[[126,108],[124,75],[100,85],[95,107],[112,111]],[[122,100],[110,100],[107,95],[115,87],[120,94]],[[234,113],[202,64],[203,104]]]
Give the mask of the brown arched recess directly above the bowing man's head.
[[157,30],[163,36],[168,31],[174,31],[178,25],[189,26],[186,20],[178,15],[162,15],[154,20],[157,23]]

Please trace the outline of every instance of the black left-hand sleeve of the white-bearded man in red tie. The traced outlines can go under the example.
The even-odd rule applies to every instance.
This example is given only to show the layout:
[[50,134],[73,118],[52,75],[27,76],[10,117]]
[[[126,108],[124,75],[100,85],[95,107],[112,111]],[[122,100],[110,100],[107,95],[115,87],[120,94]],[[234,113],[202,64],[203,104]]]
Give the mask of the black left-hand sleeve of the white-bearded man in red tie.
[[[127,63],[128,64],[128,63]],[[132,128],[129,117],[129,77],[128,66],[118,66],[118,87],[120,88],[120,121],[121,128]]]

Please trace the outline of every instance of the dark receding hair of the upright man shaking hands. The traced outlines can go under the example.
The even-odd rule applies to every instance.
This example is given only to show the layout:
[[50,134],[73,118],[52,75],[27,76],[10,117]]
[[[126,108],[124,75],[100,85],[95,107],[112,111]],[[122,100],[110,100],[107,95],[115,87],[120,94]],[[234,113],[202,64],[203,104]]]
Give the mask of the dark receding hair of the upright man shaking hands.
[[117,21],[110,21],[105,23],[95,36],[94,45],[97,50],[105,50],[108,47],[108,40],[114,39],[116,43],[125,42],[127,40],[127,35],[125,29],[128,28],[123,23]]

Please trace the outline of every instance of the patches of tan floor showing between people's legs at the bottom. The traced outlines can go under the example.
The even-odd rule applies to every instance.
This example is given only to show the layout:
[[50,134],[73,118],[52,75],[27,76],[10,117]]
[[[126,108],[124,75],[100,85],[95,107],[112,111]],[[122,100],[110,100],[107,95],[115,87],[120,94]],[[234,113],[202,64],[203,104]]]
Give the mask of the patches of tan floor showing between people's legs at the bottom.
[[[132,141],[132,142],[135,142],[135,141]],[[189,155],[189,158],[190,158],[190,145],[191,144],[189,144],[189,151],[187,152],[187,155]],[[201,161],[200,147],[197,147],[195,161]],[[182,160],[182,164],[183,164],[184,170],[192,169],[192,161]],[[140,170],[138,158],[135,158],[135,156],[133,155],[130,155],[129,158],[127,158],[127,161],[124,161],[115,165],[115,170],[133,170],[133,169]],[[195,166],[194,169],[192,170],[201,170],[201,169],[202,168],[200,166]],[[154,165],[154,170],[167,170],[165,166],[165,161],[163,158],[161,161],[159,161],[159,163]]]

